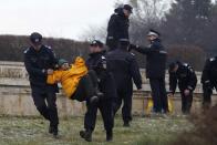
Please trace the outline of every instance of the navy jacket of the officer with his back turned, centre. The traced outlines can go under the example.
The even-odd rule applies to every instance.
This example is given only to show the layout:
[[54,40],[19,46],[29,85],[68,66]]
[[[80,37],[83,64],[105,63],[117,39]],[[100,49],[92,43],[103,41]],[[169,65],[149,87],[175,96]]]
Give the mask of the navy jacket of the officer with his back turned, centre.
[[134,54],[123,49],[116,49],[107,53],[107,62],[117,89],[132,90],[132,79],[137,89],[142,87],[142,76]]

